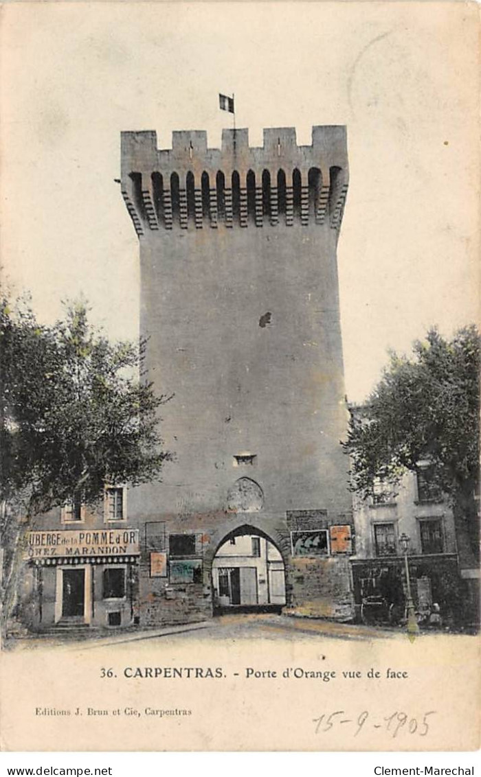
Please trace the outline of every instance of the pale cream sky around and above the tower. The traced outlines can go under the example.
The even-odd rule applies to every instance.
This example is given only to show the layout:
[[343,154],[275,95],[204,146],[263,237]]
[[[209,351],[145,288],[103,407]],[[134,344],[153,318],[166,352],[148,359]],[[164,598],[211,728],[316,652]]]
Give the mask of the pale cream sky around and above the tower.
[[19,2],[2,9],[2,278],[41,321],[83,295],[139,333],[120,132],[346,124],[339,287],[350,401],[437,325],[479,321],[479,29],[464,2]]

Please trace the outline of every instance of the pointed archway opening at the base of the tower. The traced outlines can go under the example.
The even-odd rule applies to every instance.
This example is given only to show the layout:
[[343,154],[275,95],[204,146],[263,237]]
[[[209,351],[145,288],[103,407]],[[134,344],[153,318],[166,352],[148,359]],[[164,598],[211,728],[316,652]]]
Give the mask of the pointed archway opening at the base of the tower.
[[286,605],[286,569],[272,538],[244,524],[219,543],[212,559],[214,615],[280,612]]

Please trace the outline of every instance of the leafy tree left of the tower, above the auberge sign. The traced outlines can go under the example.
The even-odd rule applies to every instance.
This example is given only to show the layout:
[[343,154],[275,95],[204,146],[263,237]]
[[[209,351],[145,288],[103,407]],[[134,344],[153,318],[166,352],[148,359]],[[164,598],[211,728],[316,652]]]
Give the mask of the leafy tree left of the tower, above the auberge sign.
[[157,479],[171,458],[158,427],[168,398],[143,379],[145,348],[145,341],[110,343],[83,304],[41,326],[25,302],[12,309],[6,295],[0,299],[4,605],[18,566],[20,517],[28,523],[72,499],[93,506],[106,483]]

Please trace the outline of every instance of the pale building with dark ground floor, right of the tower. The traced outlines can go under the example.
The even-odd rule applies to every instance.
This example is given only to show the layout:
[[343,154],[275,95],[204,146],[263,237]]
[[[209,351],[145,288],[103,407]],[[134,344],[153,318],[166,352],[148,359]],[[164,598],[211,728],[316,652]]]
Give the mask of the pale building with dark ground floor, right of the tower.
[[432,475],[430,463],[420,462],[400,483],[377,480],[371,497],[353,497],[353,592],[364,622],[395,625],[405,618],[407,551],[420,622],[437,605],[444,625],[462,625],[469,588],[459,569],[453,512]]

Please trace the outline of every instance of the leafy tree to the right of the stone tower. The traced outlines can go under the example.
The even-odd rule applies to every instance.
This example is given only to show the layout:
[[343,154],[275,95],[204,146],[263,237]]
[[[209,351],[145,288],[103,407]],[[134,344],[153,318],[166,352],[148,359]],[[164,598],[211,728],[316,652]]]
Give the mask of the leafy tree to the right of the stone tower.
[[451,503],[458,551],[479,556],[479,368],[476,326],[446,340],[430,329],[413,357],[391,353],[366,405],[352,413],[343,447],[352,461],[353,490],[372,493],[374,479],[398,482],[406,469],[430,462],[434,486]]

